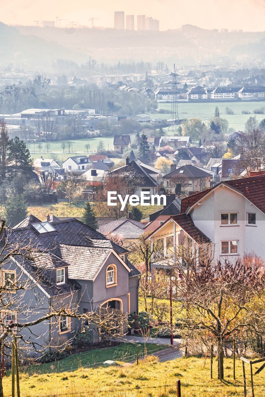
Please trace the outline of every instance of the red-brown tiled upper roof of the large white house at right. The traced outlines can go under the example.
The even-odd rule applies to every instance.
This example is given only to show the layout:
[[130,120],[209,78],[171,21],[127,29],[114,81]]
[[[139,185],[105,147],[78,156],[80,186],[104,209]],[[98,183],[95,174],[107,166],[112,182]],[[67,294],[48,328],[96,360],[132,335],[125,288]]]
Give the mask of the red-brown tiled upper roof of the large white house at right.
[[249,178],[233,179],[223,182],[233,189],[238,190],[257,208],[265,213],[265,175],[257,175]]

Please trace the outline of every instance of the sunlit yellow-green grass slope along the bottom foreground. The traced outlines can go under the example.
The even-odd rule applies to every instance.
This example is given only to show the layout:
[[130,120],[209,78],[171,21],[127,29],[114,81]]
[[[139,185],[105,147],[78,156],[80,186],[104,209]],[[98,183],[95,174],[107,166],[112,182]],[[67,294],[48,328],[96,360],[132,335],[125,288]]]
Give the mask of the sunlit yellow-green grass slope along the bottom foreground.
[[[253,372],[261,366],[253,365]],[[232,359],[224,359],[225,380],[217,380],[217,360],[213,361],[210,379],[209,358],[179,358],[157,362],[149,357],[139,365],[108,368],[80,368],[73,372],[20,375],[21,397],[171,397],[176,394],[176,380],[181,380],[182,397],[242,397],[242,362],[236,359],[236,381],[233,380]],[[248,396],[250,366],[246,365]],[[4,395],[11,396],[11,378],[3,379]],[[265,372],[254,376],[255,397],[265,394]]]

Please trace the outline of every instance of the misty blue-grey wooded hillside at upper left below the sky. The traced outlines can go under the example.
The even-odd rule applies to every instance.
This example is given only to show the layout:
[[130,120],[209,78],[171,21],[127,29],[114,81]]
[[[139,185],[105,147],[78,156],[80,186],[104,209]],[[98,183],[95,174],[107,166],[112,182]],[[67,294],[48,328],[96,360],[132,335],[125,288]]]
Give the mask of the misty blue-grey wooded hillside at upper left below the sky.
[[[51,39],[52,40],[52,39]],[[66,48],[58,42],[34,35],[23,35],[16,27],[0,22],[0,67],[13,64],[24,70],[50,70],[58,58],[84,62],[80,52]]]

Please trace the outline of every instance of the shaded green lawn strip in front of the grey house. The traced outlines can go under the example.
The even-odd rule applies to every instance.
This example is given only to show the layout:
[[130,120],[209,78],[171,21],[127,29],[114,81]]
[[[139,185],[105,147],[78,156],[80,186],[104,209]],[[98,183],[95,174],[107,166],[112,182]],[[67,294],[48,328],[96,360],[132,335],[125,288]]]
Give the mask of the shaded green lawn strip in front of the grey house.
[[[148,353],[165,349],[163,345],[156,345],[154,343],[146,343]],[[80,367],[93,366],[96,362],[103,364],[106,360],[114,361],[132,361],[136,359],[136,354],[144,354],[143,343],[120,343],[115,347],[106,347],[103,349],[92,349],[75,353],[71,356],[63,358],[62,360],[47,362],[39,366],[32,366],[28,368],[29,373],[46,373],[46,372],[64,372],[76,370]]]

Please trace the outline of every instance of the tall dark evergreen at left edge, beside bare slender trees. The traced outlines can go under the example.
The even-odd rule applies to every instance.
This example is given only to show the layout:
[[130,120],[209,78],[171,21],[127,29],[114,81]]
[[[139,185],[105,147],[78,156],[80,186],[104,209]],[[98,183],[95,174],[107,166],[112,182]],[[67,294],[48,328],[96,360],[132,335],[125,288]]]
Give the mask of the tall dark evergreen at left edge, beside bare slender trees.
[[27,175],[33,170],[29,149],[18,137],[8,141],[7,158],[7,172],[11,178],[16,177],[18,173]]

